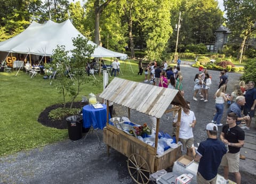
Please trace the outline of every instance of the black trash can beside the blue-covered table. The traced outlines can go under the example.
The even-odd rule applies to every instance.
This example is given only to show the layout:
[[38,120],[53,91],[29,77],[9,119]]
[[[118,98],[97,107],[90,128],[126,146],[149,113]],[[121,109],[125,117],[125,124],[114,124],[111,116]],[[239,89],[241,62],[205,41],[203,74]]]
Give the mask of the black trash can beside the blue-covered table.
[[83,116],[72,115],[66,118],[68,123],[68,136],[70,140],[78,140],[82,138]]

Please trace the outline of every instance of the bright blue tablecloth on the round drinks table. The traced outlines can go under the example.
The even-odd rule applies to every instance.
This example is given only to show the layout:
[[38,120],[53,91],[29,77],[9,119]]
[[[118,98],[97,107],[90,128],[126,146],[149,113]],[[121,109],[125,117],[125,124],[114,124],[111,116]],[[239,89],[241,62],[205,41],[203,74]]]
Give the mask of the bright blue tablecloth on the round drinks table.
[[[83,127],[94,129],[103,129],[107,122],[107,106],[102,104],[103,108],[95,109],[92,105],[83,107]],[[110,119],[110,115],[109,115]]]

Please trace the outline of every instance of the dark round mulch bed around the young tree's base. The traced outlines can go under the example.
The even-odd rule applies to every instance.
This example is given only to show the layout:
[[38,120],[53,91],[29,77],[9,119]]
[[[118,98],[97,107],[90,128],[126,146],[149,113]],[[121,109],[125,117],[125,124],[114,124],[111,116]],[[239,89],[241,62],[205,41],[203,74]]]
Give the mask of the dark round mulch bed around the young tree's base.
[[[66,107],[69,107],[71,103],[67,103]],[[74,102],[73,103],[73,108],[83,108],[83,106],[87,105],[88,103],[86,102]],[[43,112],[41,112],[41,114],[38,117],[38,122],[43,124],[46,127],[53,127],[53,128],[57,128],[57,129],[67,129],[68,125],[67,125],[67,121],[66,118],[70,115],[67,115],[65,117],[63,117],[63,119],[61,120],[53,120],[51,118],[49,118],[49,113],[59,107],[63,107],[63,104],[55,104],[49,107],[46,107],[45,110]],[[76,115],[76,114],[72,114],[72,115]]]

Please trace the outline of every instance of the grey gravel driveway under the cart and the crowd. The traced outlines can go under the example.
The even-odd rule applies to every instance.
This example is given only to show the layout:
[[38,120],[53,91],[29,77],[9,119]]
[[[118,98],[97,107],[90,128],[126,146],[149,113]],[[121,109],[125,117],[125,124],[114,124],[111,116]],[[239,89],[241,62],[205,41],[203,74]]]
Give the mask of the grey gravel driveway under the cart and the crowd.
[[[209,102],[193,101],[194,76],[198,69],[183,64],[181,65],[181,72],[184,77],[185,98],[190,101],[191,110],[195,112],[197,118],[194,136],[195,143],[199,143],[206,139],[206,133],[203,130],[213,118],[215,106],[212,97],[217,90],[219,71],[209,71],[212,76]],[[241,75],[237,73],[228,73],[228,75],[227,93],[231,93],[234,83],[238,81]],[[143,76],[135,77],[141,77],[141,81],[143,81]],[[125,107],[115,105],[114,108],[116,116],[127,115]],[[224,119],[225,114],[222,123],[225,123]],[[160,130],[171,134],[172,120],[172,113],[164,114],[161,119]],[[147,115],[131,110],[131,121],[145,123],[149,120]],[[255,123],[253,126],[252,131],[254,133],[252,136],[255,140]],[[110,149],[110,156],[108,157],[106,146],[102,140],[102,130],[98,130],[77,141],[68,139],[30,151],[1,157],[0,183],[134,183],[127,170],[127,158],[114,149]],[[255,150],[253,153],[254,160],[241,161],[242,183],[256,183]],[[222,174],[221,169],[219,173]],[[230,175],[230,179],[234,180],[233,175]]]

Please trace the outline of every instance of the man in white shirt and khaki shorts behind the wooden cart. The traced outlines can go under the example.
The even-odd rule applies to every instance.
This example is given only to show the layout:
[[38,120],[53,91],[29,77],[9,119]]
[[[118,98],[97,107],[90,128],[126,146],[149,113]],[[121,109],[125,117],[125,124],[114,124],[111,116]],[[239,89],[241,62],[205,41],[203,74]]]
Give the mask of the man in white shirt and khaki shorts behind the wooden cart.
[[[188,106],[190,107],[190,103]],[[196,124],[196,117],[193,111],[190,111],[188,108],[183,108],[181,111],[181,119],[178,122],[178,114],[175,115],[173,120],[173,127],[180,126],[179,131],[179,141],[181,141],[183,145],[183,149],[187,148],[187,155],[193,157],[193,148],[194,144],[194,135],[193,128]]]

